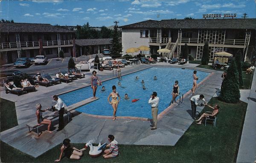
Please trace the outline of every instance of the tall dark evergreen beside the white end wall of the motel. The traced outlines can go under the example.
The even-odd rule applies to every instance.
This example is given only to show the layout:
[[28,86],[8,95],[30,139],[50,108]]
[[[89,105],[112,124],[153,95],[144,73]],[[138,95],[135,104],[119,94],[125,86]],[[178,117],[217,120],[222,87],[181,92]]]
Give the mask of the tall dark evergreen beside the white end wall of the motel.
[[122,44],[121,44],[121,40],[120,40],[120,33],[118,32],[117,28],[118,22],[114,22],[116,23],[114,26],[114,31],[113,31],[113,36],[112,36],[112,40],[111,40],[111,44],[112,44],[112,50],[111,50],[111,56],[113,59],[115,58],[119,58],[120,56],[122,56]]

